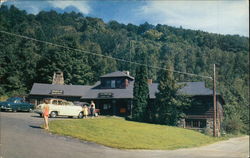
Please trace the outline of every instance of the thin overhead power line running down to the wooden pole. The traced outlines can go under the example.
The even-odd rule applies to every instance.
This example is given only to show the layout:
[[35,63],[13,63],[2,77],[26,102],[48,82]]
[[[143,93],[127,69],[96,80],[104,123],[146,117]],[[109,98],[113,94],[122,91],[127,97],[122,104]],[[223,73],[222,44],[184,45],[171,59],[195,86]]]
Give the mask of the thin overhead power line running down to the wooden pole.
[[55,43],[51,43],[51,42],[47,42],[47,41],[38,40],[38,39],[31,38],[31,37],[28,37],[28,36],[18,35],[18,34],[7,32],[7,31],[2,31],[1,30],[0,32],[3,33],[3,34],[16,36],[16,37],[19,37],[19,38],[28,39],[28,40],[32,40],[32,41],[35,41],[35,42],[45,43],[47,45],[52,45],[52,46],[55,46],[55,47],[60,47],[60,48],[68,49],[68,50],[73,50],[73,51],[83,52],[83,53],[86,53],[86,54],[100,56],[100,57],[104,57],[104,58],[108,58],[108,59],[112,59],[112,60],[116,60],[116,61],[126,62],[126,63],[135,64],[135,65],[139,65],[139,66],[145,66],[145,67],[149,67],[149,68],[153,68],[153,69],[170,71],[170,72],[184,74],[184,75],[190,75],[190,76],[197,76],[197,77],[201,77],[201,78],[212,79],[212,77],[210,77],[210,76],[198,75],[198,74],[193,74],[193,73],[188,73],[188,72],[181,72],[181,71],[166,69],[166,68],[158,67],[158,66],[148,66],[147,64],[142,64],[142,63],[138,63],[138,62],[134,62],[134,61],[128,61],[128,60],[125,60],[125,59],[115,58],[115,57],[111,57],[111,56],[107,56],[107,55],[97,54],[97,53],[89,52],[89,51],[82,50],[82,49],[71,48],[71,47],[67,47],[67,46],[63,46],[63,45],[59,45],[59,44],[55,44]]

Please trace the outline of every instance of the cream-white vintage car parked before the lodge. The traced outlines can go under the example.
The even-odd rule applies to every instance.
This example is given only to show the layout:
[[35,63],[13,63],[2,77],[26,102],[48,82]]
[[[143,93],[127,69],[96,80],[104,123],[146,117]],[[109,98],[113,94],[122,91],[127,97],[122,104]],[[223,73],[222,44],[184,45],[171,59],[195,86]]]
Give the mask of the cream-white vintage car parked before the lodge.
[[[63,99],[49,98],[46,100],[48,100],[49,103],[50,117],[56,117],[56,116],[71,116],[71,117],[76,116],[78,118],[83,117],[81,106],[76,106],[72,102],[68,102]],[[34,112],[42,116],[44,105],[45,105],[44,103],[39,104],[35,108]]]

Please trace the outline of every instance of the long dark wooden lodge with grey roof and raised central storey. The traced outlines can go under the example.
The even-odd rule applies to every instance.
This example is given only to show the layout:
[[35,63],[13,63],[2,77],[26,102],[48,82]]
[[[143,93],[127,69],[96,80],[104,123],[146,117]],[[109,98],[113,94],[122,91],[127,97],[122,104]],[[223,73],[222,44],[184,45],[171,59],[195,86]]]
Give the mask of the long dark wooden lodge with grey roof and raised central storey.
[[[185,128],[212,127],[213,91],[205,87],[205,82],[182,82],[179,93],[188,95],[195,103],[186,111],[186,119],[181,125]],[[150,100],[153,102],[158,92],[158,83],[148,81]],[[134,77],[128,71],[116,71],[100,77],[93,86],[34,83],[29,98],[39,104],[43,98],[54,97],[69,101],[94,101],[102,115],[128,116],[133,106]],[[222,118],[224,101],[217,95],[219,115]]]

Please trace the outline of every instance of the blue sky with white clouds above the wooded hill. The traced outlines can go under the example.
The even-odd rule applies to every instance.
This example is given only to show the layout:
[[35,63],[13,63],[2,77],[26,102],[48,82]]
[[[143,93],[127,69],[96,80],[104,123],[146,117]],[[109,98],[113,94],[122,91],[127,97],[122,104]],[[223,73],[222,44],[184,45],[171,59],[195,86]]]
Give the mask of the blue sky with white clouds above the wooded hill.
[[105,22],[148,22],[249,37],[248,0],[7,0],[1,4],[15,5],[30,14],[75,11]]

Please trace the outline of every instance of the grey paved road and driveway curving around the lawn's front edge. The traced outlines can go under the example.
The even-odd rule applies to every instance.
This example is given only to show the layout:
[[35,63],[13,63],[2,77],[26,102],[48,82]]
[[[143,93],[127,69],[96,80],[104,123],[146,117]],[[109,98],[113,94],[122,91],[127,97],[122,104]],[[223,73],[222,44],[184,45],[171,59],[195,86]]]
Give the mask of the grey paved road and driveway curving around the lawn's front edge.
[[[1,112],[0,158],[248,158],[249,137],[171,151],[119,150],[52,135],[34,113]],[[1,157],[2,156],[2,157]]]

